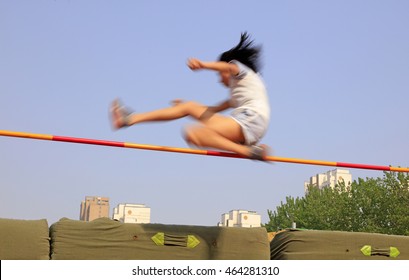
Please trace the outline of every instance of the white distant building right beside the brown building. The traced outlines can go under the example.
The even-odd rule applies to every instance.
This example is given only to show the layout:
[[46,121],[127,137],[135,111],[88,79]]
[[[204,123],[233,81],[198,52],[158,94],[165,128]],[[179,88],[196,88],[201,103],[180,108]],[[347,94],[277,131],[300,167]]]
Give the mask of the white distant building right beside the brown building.
[[149,224],[151,222],[151,208],[145,204],[118,204],[114,208],[112,219],[122,223]]

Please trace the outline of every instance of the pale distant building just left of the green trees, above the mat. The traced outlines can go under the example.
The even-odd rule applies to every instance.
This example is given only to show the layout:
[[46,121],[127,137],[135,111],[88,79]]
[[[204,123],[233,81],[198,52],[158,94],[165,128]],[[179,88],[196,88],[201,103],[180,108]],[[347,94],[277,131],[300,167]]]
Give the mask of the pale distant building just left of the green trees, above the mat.
[[255,211],[231,210],[222,215],[221,227],[261,227],[261,216]]

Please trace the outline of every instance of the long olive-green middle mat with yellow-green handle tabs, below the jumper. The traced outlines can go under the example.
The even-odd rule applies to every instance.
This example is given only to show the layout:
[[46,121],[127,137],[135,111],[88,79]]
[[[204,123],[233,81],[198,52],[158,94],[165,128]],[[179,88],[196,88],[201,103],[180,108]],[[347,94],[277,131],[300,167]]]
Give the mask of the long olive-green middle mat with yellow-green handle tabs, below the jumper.
[[265,228],[124,224],[63,218],[50,228],[51,259],[206,260],[270,258]]

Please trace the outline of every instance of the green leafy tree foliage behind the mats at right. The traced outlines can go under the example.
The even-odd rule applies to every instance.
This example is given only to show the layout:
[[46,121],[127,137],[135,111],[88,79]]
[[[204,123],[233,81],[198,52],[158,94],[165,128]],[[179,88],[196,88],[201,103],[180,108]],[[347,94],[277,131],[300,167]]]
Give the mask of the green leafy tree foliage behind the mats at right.
[[268,231],[290,228],[409,235],[409,174],[384,172],[346,186],[310,186],[302,198],[287,197],[268,210]]

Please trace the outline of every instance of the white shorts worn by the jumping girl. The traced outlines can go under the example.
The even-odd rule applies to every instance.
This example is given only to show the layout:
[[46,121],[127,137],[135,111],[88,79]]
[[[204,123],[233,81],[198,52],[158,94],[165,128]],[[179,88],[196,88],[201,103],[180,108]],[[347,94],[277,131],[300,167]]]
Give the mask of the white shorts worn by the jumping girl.
[[241,126],[246,145],[257,144],[267,131],[267,121],[253,110],[233,111],[231,117]]

